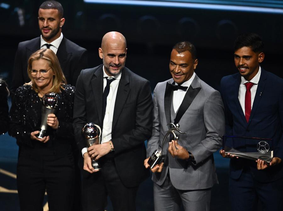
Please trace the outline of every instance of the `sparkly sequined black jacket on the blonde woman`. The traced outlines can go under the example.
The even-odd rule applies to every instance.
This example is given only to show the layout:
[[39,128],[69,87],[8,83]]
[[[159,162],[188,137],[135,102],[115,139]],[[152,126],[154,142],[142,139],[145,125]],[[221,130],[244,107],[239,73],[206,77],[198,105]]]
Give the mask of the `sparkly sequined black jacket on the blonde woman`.
[[31,85],[20,86],[16,90],[9,113],[8,133],[17,139],[20,153],[62,157],[71,154],[71,145],[75,142],[72,127],[75,87],[68,84],[63,87],[64,90],[58,93],[60,104],[56,111],[59,127],[53,130],[48,126],[50,139],[46,143],[31,139],[31,132],[38,130],[41,125],[42,102],[38,94],[31,89]]

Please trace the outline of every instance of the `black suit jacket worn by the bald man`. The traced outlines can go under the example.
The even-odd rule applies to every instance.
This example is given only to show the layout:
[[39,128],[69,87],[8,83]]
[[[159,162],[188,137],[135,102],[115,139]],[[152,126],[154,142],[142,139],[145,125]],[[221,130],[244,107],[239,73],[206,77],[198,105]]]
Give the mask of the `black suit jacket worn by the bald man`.
[[[88,122],[102,127],[102,99],[103,65],[82,70],[76,84],[73,122],[80,151],[86,147],[82,127]],[[152,109],[149,81],[124,67],[114,106],[112,142],[116,169],[127,187],[139,185],[149,175],[143,161],[146,158],[144,141],[152,133]],[[82,169],[82,156],[80,165]],[[83,175],[89,173],[83,170]]]

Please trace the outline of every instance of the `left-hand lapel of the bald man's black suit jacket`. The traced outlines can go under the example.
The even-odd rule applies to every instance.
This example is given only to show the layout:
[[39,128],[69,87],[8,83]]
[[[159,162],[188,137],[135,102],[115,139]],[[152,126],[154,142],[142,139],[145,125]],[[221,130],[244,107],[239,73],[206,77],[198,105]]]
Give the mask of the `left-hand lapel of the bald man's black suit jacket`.
[[94,73],[94,78],[91,80],[92,94],[97,108],[99,124],[102,125],[102,102],[103,102],[103,65],[101,65]]

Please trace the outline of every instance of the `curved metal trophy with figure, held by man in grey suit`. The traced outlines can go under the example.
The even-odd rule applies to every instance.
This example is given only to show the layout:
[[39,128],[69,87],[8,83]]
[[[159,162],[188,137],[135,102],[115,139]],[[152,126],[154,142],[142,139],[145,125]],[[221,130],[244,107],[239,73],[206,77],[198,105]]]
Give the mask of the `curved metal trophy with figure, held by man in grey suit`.
[[164,160],[165,156],[166,156],[166,155],[162,154],[162,150],[163,150],[163,146],[164,146],[164,143],[165,143],[167,136],[169,136],[170,134],[173,134],[174,140],[178,141],[178,137],[176,136],[175,131],[178,131],[179,133],[185,134],[185,133],[183,133],[179,130],[179,126],[180,126],[179,124],[174,125],[173,123],[169,123],[168,125],[172,125],[172,128],[166,132],[164,139],[163,139],[163,142],[162,142],[161,149],[156,149],[147,161],[147,163],[148,163],[148,165],[150,166],[151,169],[154,166],[161,164],[162,161]]

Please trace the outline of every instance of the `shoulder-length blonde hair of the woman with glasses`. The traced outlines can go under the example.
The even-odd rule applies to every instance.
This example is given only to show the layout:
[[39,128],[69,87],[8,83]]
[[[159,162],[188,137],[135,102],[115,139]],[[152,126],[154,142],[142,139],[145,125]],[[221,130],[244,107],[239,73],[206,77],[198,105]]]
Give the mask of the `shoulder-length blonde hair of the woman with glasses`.
[[39,59],[44,59],[48,62],[49,67],[53,70],[53,73],[55,74],[53,76],[53,85],[51,87],[50,90],[48,90],[48,92],[61,92],[60,89],[64,89],[63,88],[63,84],[66,84],[66,78],[64,76],[64,73],[60,67],[60,63],[58,61],[58,58],[56,56],[56,54],[50,50],[50,49],[40,49],[38,51],[36,51],[35,53],[31,54],[29,60],[28,60],[28,75],[29,78],[31,79],[31,82],[28,83],[31,85],[31,88],[38,93],[39,89],[36,86],[36,83],[34,82],[34,78],[31,76],[31,69],[32,69],[32,62],[39,60]]

